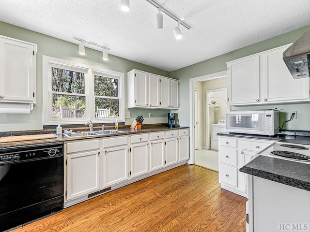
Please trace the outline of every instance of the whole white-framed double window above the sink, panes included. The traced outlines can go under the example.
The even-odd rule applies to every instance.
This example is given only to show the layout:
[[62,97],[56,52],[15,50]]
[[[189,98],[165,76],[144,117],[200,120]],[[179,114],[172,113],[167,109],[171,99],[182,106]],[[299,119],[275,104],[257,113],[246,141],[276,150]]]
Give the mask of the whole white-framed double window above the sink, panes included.
[[43,56],[44,125],[124,121],[124,73]]

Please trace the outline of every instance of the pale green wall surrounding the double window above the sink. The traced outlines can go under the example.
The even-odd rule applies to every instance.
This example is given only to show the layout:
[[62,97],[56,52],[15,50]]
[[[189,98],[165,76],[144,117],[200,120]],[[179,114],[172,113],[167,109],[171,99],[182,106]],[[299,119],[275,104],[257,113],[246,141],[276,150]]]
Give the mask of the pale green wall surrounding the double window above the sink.
[[[102,52],[87,47],[85,47],[86,55],[80,56],[78,54],[78,45],[75,43],[69,43],[60,39],[56,39],[54,37],[50,37],[28,29],[16,27],[14,25],[4,22],[0,22],[0,35],[37,44],[37,104],[34,106],[34,109],[33,111],[31,111],[30,115],[0,114],[0,131],[24,131],[43,129],[42,55],[89,64],[122,73],[127,73],[132,69],[138,69],[141,71],[155,73],[167,77],[169,77],[170,74],[167,71],[134,62],[128,59],[112,56],[110,54],[109,61],[103,61]],[[127,96],[126,75],[124,84],[125,96]],[[162,120],[167,118],[167,113],[170,112],[170,110],[127,109],[126,99],[125,111],[129,111],[132,118],[136,118],[138,115],[141,114],[143,114],[144,117],[147,117],[149,112],[152,113],[152,118],[147,119],[147,123],[161,122]],[[132,120],[133,119],[126,119],[126,123],[131,124]]]

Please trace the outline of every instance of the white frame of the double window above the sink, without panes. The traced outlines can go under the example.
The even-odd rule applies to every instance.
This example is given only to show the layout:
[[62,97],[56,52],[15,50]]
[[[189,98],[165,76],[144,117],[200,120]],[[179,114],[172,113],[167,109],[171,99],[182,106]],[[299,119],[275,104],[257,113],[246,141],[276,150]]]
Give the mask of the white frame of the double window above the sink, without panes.
[[[57,125],[57,124],[83,124],[92,120],[93,123],[109,123],[124,122],[124,108],[125,108],[125,90],[124,90],[124,73],[102,69],[92,65],[81,64],[74,61],[64,60],[60,58],[42,56],[43,63],[43,125]],[[51,68],[68,69],[85,73],[85,93],[65,93],[52,91]],[[109,118],[96,118],[95,117],[95,98],[94,95],[94,75],[102,75],[109,78],[118,79],[118,97],[119,99],[119,116]],[[70,96],[85,96],[85,117],[83,118],[53,118],[52,117],[52,96],[53,94],[70,95]],[[102,97],[102,96],[101,96]],[[108,97],[109,98],[109,97]],[[113,98],[115,99],[115,98]]]

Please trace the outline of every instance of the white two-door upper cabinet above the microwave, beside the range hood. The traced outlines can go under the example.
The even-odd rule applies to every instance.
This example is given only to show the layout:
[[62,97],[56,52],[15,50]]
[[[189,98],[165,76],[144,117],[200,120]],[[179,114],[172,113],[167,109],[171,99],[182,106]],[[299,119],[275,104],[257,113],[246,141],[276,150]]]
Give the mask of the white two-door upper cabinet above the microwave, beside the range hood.
[[295,80],[283,61],[290,44],[227,62],[230,105],[310,100],[309,78]]

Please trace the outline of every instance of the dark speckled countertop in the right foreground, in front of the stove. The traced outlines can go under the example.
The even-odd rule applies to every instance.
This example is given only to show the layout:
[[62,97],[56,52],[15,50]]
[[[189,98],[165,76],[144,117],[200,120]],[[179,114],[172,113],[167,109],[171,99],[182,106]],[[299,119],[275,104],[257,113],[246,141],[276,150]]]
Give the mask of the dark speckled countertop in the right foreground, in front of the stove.
[[307,163],[258,156],[240,168],[240,172],[310,191],[310,164]]

